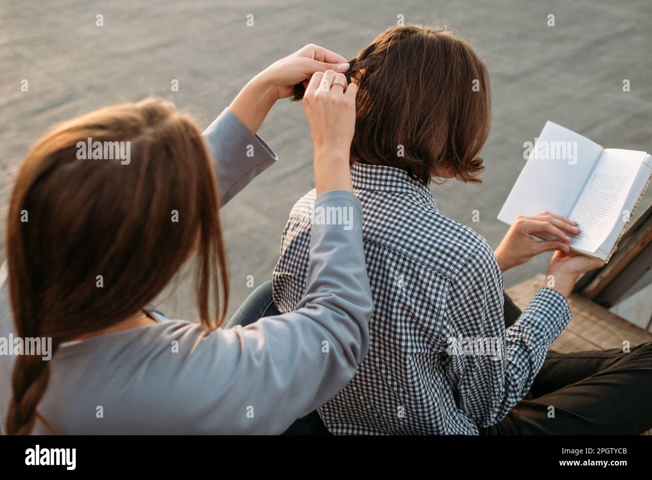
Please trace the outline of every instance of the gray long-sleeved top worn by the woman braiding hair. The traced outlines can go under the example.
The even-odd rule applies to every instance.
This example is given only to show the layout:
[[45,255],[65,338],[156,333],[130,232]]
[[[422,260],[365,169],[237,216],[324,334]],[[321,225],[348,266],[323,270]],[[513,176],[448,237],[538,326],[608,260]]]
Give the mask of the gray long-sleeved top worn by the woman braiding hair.
[[[276,161],[229,110],[203,135],[222,205]],[[253,157],[246,155],[251,145]],[[323,193],[315,204],[351,207],[353,228],[314,225],[297,310],[244,328],[207,332],[189,321],[162,321],[61,345],[38,407],[55,432],[278,434],[340,391],[369,344],[362,210],[347,191]],[[0,338],[7,339],[14,326],[2,277]],[[3,433],[14,358],[0,355]],[[48,430],[37,421],[34,433]]]

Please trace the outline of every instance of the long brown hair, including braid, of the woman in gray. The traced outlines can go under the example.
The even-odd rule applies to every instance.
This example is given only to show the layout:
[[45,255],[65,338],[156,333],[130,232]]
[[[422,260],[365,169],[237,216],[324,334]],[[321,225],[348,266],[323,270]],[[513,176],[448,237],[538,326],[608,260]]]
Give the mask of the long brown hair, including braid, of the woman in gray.
[[[130,158],[80,159],[89,141],[128,142]],[[10,199],[16,332],[52,338],[53,354],[137,313],[194,251],[200,321],[216,328],[228,275],[211,156],[194,123],[156,99],[65,121],[27,153]],[[42,418],[37,406],[49,379],[50,362],[16,357],[8,433],[29,434]]]

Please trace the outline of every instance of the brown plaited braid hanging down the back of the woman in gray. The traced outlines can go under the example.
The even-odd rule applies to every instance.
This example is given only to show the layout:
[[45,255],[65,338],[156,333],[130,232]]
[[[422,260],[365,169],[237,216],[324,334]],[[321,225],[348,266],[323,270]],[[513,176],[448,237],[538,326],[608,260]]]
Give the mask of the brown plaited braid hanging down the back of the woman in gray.
[[[53,352],[56,350],[53,346]],[[50,361],[38,355],[18,355],[12,377],[13,396],[7,412],[7,432],[10,435],[28,435],[37,418],[53,433],[52,425],[37,412],[50,381]]]

